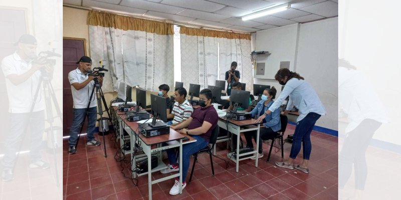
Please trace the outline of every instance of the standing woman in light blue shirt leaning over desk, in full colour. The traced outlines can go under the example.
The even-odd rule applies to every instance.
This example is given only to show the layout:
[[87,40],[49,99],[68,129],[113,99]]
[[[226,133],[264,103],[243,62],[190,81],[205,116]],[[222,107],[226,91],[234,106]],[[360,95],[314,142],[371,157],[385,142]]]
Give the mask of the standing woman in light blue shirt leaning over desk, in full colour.
[[[290,99],[284,114],[288,114],[294,105],[298,108],[299,112],[297,126],[295,127],[293,135],[290,157],[283,162],[276,162],[276,165],[289,169],[295,167],[305,173],[309,173],[308,161],[312,150],[310,133],[312,132],[317,119],[319,119],[321,115],[326,114],[326,109],[320,101],[316,91],[298,73],[292,72],[288,68],[281,68],[277,71],[275,79],[279,81],[281,85],[285,85],[285,87],[280,96],[269,107],[265,114],[268,115],[278,109],[288,95],[290,96]],[[260,116],[258,121],[262,121],[265,114]],[[294,159],[301,150],[301,143],[303,146],[303,161],[298,165],[294,164]]]

